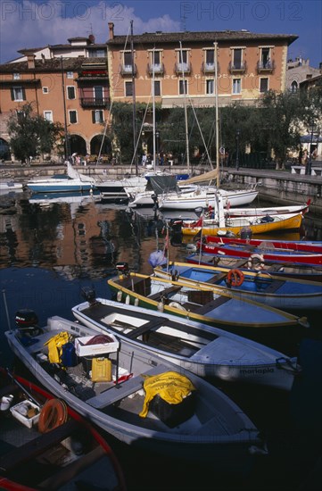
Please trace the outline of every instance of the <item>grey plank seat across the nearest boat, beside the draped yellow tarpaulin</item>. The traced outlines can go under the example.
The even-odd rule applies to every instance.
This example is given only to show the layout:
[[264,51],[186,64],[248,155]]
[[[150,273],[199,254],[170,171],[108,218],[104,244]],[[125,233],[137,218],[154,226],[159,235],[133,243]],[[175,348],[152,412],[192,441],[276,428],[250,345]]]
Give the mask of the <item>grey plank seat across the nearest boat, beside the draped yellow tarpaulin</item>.
[[[152,370],[144,372],[143,375],[144,377],[145,375],[159,375],[164,371],[169,371],[169,368],[161,364],[153,367]],[[87,399],[87,404],[95,407],[95,409],[103,409],[106,406],[120,401],[120,399],[123,399],[124,397],[128,397],[128,395],[141,390],[144,383],[143,375],[137,375],[132,379],[128,379],[125,382],[108,388],[104,392],[101,392],[100,395],[95,395],[94,397]]]

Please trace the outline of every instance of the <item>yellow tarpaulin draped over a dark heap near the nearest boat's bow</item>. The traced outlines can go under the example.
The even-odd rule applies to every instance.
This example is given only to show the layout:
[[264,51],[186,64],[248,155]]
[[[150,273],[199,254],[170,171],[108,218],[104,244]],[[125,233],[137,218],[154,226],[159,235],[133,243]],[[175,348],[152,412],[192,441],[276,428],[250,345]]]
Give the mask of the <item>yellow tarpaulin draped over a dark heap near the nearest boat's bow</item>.
[[179,404],[192,390],[195,390],[192,382],[177,371],[166,371],[160,375],[146,377],[143,387],[145,399],[140,412],[142,418],[145,418],[149,412],[149,404],[155,395],[160,395],[169,404]]

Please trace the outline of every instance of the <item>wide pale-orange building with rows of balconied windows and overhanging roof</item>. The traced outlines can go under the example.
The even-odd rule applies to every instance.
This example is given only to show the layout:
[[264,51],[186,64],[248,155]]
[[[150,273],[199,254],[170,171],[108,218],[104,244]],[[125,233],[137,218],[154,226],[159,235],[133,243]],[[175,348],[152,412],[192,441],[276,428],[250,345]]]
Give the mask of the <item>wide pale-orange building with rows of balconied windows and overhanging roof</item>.
[[185,96],[194,106],[213,106],[216,79],[219,105],[254,104],[270,89],[283,92],[287,48],[297,38],[245,30],[145,33],[133,37],[132,72],[127,37],[115,36],[112,23],[109,32],[111,98],[130,102],[134,80],[138,102],[151,101],[154,92],[164,108],[182,106]]

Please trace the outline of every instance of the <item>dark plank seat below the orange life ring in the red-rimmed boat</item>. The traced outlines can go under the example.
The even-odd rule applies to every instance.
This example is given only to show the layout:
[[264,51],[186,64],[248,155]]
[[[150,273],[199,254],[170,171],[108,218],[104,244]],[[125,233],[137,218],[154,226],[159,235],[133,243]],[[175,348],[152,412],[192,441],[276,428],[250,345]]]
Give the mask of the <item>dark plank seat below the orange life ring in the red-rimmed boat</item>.
[[0,457],[0,469],[5,472],[9,472],[15,468],[18,469],[22,462],[43,454],[45,450],[69,437],[70,434],[78,428],[79,425],[76,420],[68,420],[61,426],[48,431],[48,433],[43,433],[39,437],[29,441],[27,444],[18,448],[15,447],[11,452]]

